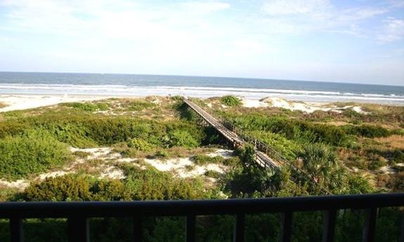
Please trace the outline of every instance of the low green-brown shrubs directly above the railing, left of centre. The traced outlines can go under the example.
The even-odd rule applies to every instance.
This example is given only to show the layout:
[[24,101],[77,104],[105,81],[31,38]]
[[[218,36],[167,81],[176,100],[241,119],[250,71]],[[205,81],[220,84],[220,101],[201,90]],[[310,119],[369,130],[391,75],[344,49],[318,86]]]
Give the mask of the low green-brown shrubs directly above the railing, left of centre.
[[87,175],[65,175],[33,183],[22,195],[25,201],[132,201],[218,198],[199,180],[172,177],[155,168],[122,166],[125,180],[99,180]]

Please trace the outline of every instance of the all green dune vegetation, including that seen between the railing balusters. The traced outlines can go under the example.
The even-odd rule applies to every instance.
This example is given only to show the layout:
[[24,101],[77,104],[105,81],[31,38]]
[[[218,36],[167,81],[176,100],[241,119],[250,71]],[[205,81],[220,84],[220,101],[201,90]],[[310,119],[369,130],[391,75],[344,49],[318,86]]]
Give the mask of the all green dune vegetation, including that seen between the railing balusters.
[[[235,157],[208,156],[200,147],[217,144],[219,135],[199,126],[180,99],[154,101],[105,100],[0,114],[0,175],[6,180],[30,177],[71,159],[86,161],[89,153],[72,153],[69,146],[111,147],[122,157],[138,159],[115,165],[124,172],[120,179],[98,177],[84,164],[77,173],[37,180],[22,192],[0,189],[0,201],[233,199],[324,194],[320,187],[333,194],[404,189],[404,170],[397,165],[404,162],[403,113],[397,107],[369,106],[371,114],[367,115],[303,114],[275,108],[246,109],[233,96],[218,100],[219,105],[227,106],[221,109],[209,109],[204,101],[195,99],[207,111],[231,121],[239,132],[270,145],[306,173],[298,175],[288,167],[275,171],[259,168],[249,145],[237,149]],[[192,157],[190,169],[208,164],[228,169],[223,174],[207,170],[204,175],[216,179],[207,186],[200,177],[176,177],[143,160],[170,157]],[[382,173],[379,168],[383,166],[397,172]],[[338,213],[335,241],[360,241],[363,218],[362,211]],[[293,221],[292,241],[320,241],[321,213],[295,213]],[[377,221],[376,241],[398,241],[398,210],[381,210]],[[126,218],[93,219],[91,240],[129,241],[131,222]],[[233,216],[197,217],[198,241],[231,241],[233,222]],[[148,217],[143,226],[145,241],[185,238],[183,217]],[[25,220],[29,241],[66,241],[65,228],[65,220]],[[0,241],[8,239],[6,231],[8,224],[0,220]],[[245,232],[246,241],[279,241],[280,217],[247,215]]]

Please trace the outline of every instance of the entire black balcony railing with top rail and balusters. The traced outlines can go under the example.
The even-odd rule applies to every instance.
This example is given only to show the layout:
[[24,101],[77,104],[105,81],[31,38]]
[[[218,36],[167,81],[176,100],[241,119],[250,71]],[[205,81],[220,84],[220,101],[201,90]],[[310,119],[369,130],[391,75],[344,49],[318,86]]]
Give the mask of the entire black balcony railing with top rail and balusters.
[[[244,241],[245,215],[281,213],[281,241],[290,241],[292,213],[324,211],[322,241],[334,241],[337,210],[365,210],[363,241],[374,241],[377,209],[403,207],[404,194],[367,194],[348,196],[308,196],[271,199],[228,199],[203,201],[133,202],[9,202],[0,203],[0,218],[10,219],[11,241],[22,241],[25,218],[67,218],[69,241],[89,241],[90,217],[133,217],[133,240],[142,241],[142,218],[147,216],[186,217],[186,241],[195,241],[195,216],[235,215],[234,241]],[[404,242],[404,216],[400,227]]]

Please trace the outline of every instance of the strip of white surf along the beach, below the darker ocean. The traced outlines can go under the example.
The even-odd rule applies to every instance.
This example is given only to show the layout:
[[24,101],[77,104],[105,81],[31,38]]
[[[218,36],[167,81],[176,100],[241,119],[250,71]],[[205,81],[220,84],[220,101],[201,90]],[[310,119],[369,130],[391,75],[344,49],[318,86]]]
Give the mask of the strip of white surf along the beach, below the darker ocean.
[[[158,80],[157,80],[158,81]],[[358,88],[349,90],[347,88],[325,88],[320,90],[313,87],[309,90],[301,86],[254,86],[249,88],[242,86],[192,86],[187,83],[185,86],[167,86],[169,83],[149,83],[150,86],[132,86],[116,84],[78,84],[78,83],[52,83],[52,84],[29,84],[29,83],[0,83],[0,95],[70,95],[80,97],[113,96],[113,97],[146,97],[150,95],[168,96],[183,95],[193,98],[213,98],[223,95],[235,95],[251,100],[261,100],[263,98],[282,98],[292,101],[303,102],[358,102],[377,103],[384,105],[404,106],[404,92],[401,90],[364,89]],[[175,83],[178,84],[178,83]],[[267,83],[268,84],[268,83]],[[395,94],[394,94],[395,93]]]

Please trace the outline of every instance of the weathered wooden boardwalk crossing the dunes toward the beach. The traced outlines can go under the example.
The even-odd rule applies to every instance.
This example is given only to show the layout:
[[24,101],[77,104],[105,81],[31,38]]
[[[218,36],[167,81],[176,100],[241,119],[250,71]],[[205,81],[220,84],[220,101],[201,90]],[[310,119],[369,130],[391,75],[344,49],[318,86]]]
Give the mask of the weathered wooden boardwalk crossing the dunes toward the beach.
[[[242,137],[237,135],[237,133],[226,128],[221,122],[215,119],[214,116],[211,116],[208,112],[204,111],[204,109],[196,105],[188,98],[183,98],[183,102],[185,102],[188,107],[193,109],[194,112],[201,116],[204,121],[207,121],[207,123],[209,123],[213,128],[221,133],[221,135],[223,135],[223,137],[230,141],[234,147],[242,147],[247,144],[247,142],[245,142]],[[255,161],[259,164],[259,166],[262,166],[263,168],[280,168],[281,164],[278,161],[271,159],[271,157],[263,152],[260,152],[256,147],[254,147],[254,150]]]

